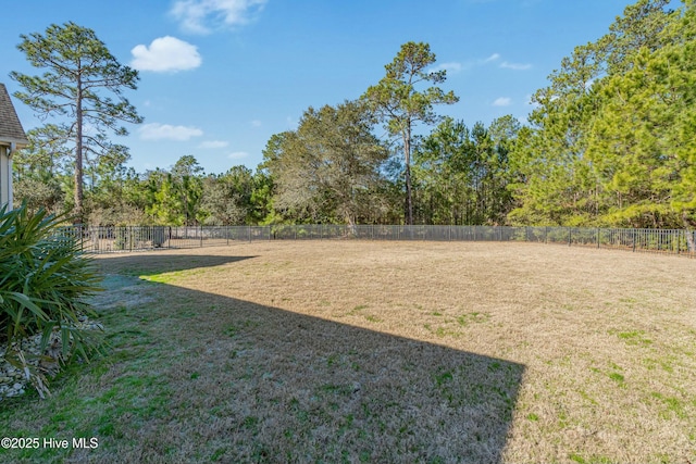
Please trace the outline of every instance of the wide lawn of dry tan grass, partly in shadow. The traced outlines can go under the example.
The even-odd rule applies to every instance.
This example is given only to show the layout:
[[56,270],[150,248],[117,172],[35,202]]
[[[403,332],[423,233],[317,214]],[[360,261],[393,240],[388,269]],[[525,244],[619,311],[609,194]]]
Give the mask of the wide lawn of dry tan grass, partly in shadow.
[[696,261],[532,243],[312,241],[105,255],[110,356],[27,462],[694,462]]

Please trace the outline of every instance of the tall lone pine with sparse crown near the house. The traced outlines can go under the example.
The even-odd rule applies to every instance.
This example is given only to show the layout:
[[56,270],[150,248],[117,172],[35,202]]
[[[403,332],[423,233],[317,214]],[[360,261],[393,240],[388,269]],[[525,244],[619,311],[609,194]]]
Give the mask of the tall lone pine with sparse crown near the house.
[[[53,24],[45,35],[21,37],[17,48],[33,66],[45,73],[41,76],[10,73],[25,89],[14,96],[41,117],[64,117],[51,131],[54,139],[73,143],[74,215],[82,221],[84,165],[88,154],[127,153],[125,147],[109,140],[109,131],[126,135],[120,123],[142,121],[123,97],[124,89],[137,88],[138,73],[119,63],[94,30],[72,22],[62,26]],[[104,96],[104,91],[114,95],[116,100]],[[87,125],[89,131],[85,130]]]

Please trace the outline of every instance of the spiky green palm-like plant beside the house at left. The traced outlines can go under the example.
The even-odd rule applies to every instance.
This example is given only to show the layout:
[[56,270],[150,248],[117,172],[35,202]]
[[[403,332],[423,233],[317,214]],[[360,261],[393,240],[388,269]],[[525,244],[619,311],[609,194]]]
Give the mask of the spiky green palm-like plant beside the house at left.
[[[80,328],[80,315],[95,315],[84,297],[99,290],[101,277],[79,248],[78,239],[61,233],[61,217],[26,205],[0,210],[0,343],[4,358],[26,373],[39,392],[45,378],[22,340],[41,335],[40,353],[52,344],[57,361],[90,358],[97,340]],[[57,341],[59,340],[59,341]],[[39,355],[40,361],[44,355]]]

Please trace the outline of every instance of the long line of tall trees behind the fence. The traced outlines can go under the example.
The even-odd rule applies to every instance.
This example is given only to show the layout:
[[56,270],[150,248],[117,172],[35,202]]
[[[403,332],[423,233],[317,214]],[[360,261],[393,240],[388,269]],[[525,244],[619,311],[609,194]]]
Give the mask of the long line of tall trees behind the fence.
[[[37,65],[46,50],[74,59],[100,50],[79,47],[98,41],[90,33],[51,26],[23,37],[20,49]],[[70,73],[60,85],[12,74],[27,89],[17,98],[67,116],[30,130],[32,146],[15,155],[15,198],[29,208],[71,211],[95,225],[696,224],[694,0],[629,5],[605,36],[561,61],[524,123],[439,116],[437,105],[458,101],[442,89],[446,72],[431,71],[427,43],[405,43],[360,98],[309,108],[295,130],[269,139],[254,171],[224,174],[206,174],[194,155],[166,170],[126,168],[127,148],[111,143],[107,129],[124,134],[120,121],[139,121],[121,92],[136,87],[137,72],[100,53],[107,62],[95,73],[111,73],[107,90],[116,101],[99,99],[100,79],[80,90]],[[97,115],[90,127],[103,130],[79,136],[80,91],[91,105],[79,111]],[[73,106],[55,104],[63,97]]]

